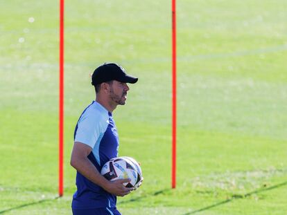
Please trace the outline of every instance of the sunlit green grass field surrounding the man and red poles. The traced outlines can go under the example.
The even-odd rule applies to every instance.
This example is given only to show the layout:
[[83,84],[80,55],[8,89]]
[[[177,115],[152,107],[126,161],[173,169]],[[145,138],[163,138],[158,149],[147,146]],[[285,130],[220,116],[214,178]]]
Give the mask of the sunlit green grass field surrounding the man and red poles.
[[122,214],[287,214],[287,1],[177,2],[171,189],[171,2],[67,1],[64,196],[58,194],[58,1],[0,1],[0,214],[71,214],[73,129],[89,73],[139,77],[114,111],[143,185]]

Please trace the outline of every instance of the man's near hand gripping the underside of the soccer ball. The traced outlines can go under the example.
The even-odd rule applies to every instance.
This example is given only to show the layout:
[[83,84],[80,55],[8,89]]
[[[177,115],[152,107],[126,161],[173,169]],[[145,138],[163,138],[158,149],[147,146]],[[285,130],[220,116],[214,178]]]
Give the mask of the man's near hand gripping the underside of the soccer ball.
[[107,192],[110,194],[114,194],[115,196],[125,196],[130,194],[134,188],[125,187],[123,183],[129,183],[130,178],[125,179],[118,179],[110,181],[110,183],[107,183],[105,187],[103,187]]

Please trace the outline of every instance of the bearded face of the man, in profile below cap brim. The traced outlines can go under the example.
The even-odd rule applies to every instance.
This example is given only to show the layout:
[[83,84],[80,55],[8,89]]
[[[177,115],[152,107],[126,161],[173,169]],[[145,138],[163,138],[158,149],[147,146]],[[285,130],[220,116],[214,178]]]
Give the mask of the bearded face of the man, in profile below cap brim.
[[128,90],[130,88],[128,87],[128,84],[118,82],[114,80],[110,84],[110,99],[115,102],[116,104],[125,104],[125,101],[127,100]]

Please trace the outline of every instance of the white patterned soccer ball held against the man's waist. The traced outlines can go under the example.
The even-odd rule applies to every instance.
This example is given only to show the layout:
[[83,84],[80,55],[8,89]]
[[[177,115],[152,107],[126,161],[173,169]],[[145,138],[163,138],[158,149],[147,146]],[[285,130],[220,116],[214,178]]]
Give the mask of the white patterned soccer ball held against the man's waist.
[[107,178],[107,180],[130,178],[129,183],[123,183],[125,187],[134,187],[137,189],[139,183],[141,183],[137,167],[135,167],[131,160],[124,157],[112,158],[106,162],[101,169],[101,175]]

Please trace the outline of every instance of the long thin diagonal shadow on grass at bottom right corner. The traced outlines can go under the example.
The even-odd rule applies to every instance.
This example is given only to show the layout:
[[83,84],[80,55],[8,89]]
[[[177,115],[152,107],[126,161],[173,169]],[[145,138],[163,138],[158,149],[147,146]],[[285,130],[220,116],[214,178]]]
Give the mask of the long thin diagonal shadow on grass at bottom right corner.
[[197,209],[197,210],[195,210],[195,211],[188,212],[188,213],[183,214],[183,215],[189,215],[189,214],[195,214],[195,213],[198,213],[198,212],[203,212],[203,211],[205,211],[205,210],[207,210],[207,209],[211,209],[211,208],[213,208],[213,207],[217,207],[217,206],[220,206],[220,205],[224,205],[224,204],[229,203],[229,202],[231,202],[232,200],[236,200],[236,199],[238,199],[238,198],[246,198],[246,197],[248,197],[248,196],[251,196],[252,194],[259,194],[259,193],[261,193],[261,192],[268,191],[268,190],[270,190],[270,189],[276,189],[276,188],[279,188],[279,187],[283,187],[283,186],[285,186],[285,185],[287,185],[287,181],[285,181],[284,183],[280,183],[280,184],[271,186],[271,187],[264,187],[264,188],[261,188],[261,189],[256,189],[256,190],[254,190],[254,191],[251,191],[251,192],[249,192],[249,193],[247,193],[247,194],[243,194],[243,195],[234,194],[231,198],[229,198],[229,199],[227,199],[227,200],[223,200],[223,201],[221,201],[221,202],[219,202],[219,203],[216,203],[216,204],[214,204],[214,205],[209,205],[209,206],[207,206],[207,207],[203,207],[203,208],[201,208],[201,209]]

